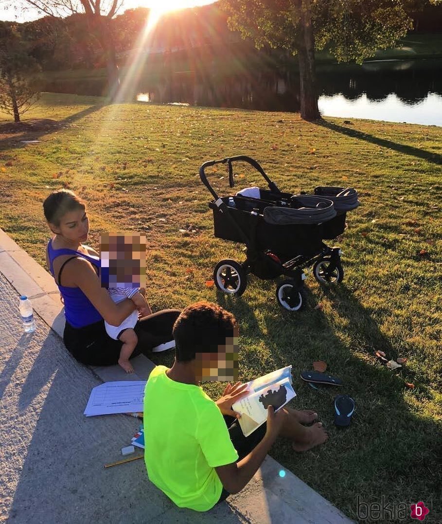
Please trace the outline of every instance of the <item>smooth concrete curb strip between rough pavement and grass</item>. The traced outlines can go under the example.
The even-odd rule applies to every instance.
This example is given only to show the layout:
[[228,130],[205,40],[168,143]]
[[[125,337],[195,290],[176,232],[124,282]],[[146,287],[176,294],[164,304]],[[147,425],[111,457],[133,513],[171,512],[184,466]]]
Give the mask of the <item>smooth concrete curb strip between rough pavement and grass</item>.
[[[0,268],[1,273],[19,294],[26,294],[32,301],[35,312],[60,337],[63,336],[64,313],[60,294],[53,278],[9,236],[0,229]],[[137,357],[139,358],[139,357]],[[153,363],[142,356],[140,375],[150,372]],[[137,372],[137,367],[135,368]],[[109,368],[94,368],[103,380],[114,378]],[[109,375],[110,372],[110,375]],[[133,375],[130,377],[132,380]],[[296,524],[349,524],[353,522],[330,504],[325,498],[307,486],[293,473],[284,470],[282,478],[279,472],[284,468],[270,456],[266,457],[260,470],[244,490],[228,499],[230,511],[236,514],[238,522],[270,524],[271,522],[295,522]],[[223,503],[226,504],[226,503]],[[161,522],[212,522],[221,518],[230,521],[224,515],[223,505],[215,507],[206,516],[194,517],[183,510],[172,507],[161,516]],[[230,515],[230,514],[229,514]]]

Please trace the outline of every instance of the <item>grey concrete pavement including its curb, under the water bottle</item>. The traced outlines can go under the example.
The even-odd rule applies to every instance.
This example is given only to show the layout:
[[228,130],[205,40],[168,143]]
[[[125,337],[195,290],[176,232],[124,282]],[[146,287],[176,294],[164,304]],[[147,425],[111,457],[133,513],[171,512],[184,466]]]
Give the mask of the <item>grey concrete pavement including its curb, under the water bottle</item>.
[[[20,294],[34,305],[33,334],[23,334]],[[91,370],[69,355],[53,279],[1,230],[0,297],[0,520],[351,522],[292,473],[281,478],[282,466],[271,457],[246,489],[205,514],[177,508],[149,482],[143,460],[105,470],[121,458],[139,421],[83,416],[91,389],[115,369]],[[142,357],[136,372],[143,378],[152,366]]]

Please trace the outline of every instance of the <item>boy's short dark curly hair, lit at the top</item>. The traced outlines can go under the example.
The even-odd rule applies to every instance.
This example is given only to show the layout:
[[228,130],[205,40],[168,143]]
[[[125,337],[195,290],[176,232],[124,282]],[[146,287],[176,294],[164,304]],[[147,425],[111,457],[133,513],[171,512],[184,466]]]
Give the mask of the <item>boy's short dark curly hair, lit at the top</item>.
[[173,326],[175,356],[178,362],[189,362],[195,353],[217,353],[218,346],[234,336],[233,314],[211,302],[195,302],[185,308]]

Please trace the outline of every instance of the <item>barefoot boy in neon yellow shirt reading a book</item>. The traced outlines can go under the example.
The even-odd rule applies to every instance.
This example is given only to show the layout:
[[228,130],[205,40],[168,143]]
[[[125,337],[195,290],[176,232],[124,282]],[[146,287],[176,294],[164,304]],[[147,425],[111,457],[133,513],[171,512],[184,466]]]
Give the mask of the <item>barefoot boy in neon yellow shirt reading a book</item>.
[[157,366],[144,399],[145,462],[150,481],[179,507],[207,511],[238,493],[256,473],[278,435],[305,451],[327,438],[322,424],[306,428],[312,411],[268,409],[267,423],[247,438],[232,411],[246,386],[228,385],[214,402],[200,380],[231,380],[238,375],[235,318],[208,302],[187,307],[176,320],[172,368]]

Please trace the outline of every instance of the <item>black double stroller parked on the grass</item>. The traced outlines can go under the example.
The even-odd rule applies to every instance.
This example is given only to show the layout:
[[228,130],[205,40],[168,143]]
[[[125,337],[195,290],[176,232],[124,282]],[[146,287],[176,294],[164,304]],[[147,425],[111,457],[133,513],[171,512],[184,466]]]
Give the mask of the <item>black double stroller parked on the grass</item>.
[[[227,164],[229,185],[233,188],[233,162],[247,162],[266,180],[269,189],[247,188],[233,196],[218,196],[206,177],[205,169]],[[214,200],[214,234],[217,238],[241,242],[246,260],[220,260],[213,279],[226,294],[244,293],[247,274],[261,279],[288,277],[276,290],[279,304],[288,311],[299,311],[304,303],[304,269],[313,266],[319,283],[338,283],[344,278],[338,247],[324,240],[336,238],[345,229],[347,211],[359,205],[352,188],[317,187],[314,195],[284,193],[270,180],[256,160],[235,156],[203,163],[200,177]]]

